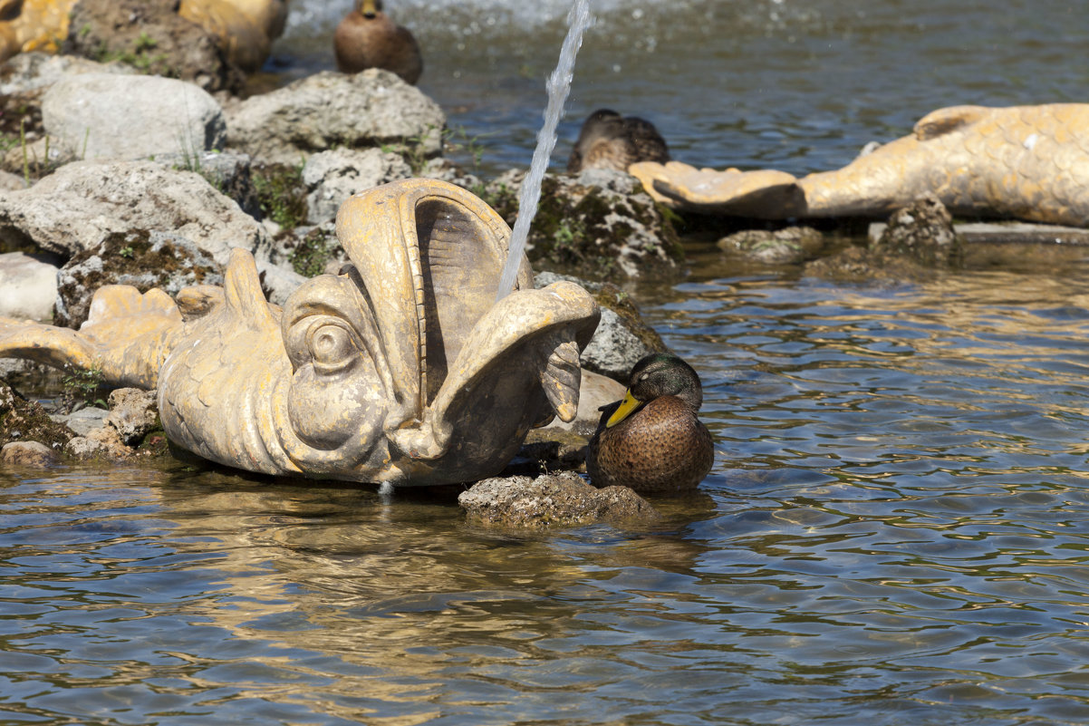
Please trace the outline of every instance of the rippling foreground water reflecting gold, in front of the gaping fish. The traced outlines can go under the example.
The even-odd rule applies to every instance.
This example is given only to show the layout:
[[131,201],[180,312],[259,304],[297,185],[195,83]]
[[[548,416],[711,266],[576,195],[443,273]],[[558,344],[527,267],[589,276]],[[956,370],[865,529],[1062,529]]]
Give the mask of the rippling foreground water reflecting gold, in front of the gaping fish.
[[0,474],[0,721],[1082,723],[1087,282],[661,291],[719,456],[645,531]]

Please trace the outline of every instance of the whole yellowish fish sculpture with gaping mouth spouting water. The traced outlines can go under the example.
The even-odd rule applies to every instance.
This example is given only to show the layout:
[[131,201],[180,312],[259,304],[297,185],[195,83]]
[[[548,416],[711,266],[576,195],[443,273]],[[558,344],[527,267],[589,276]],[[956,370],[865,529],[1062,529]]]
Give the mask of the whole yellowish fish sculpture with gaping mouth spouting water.
[[528,429],[574,419],[597,327],[577,285],[495,301],[510,228],[473,194],[414,179],[342,205],[351,259],[266,302],[235,249],[222,288],[101,288],[78,331],[0,318],[0,356],[158,387],[170,440],[266,474],[401,485],[498,473]]

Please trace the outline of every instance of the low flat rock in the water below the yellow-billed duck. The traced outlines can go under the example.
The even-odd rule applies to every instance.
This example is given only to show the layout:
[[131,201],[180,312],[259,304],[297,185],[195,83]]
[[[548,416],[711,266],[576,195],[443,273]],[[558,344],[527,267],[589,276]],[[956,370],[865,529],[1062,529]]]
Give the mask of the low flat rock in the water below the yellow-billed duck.
[[646,524],[661,515],[625,486],[595,488],[577,474],[562,472],[494,477],[477,482],[457,497],[472,520],[501,527],[578,527],[599,521]]

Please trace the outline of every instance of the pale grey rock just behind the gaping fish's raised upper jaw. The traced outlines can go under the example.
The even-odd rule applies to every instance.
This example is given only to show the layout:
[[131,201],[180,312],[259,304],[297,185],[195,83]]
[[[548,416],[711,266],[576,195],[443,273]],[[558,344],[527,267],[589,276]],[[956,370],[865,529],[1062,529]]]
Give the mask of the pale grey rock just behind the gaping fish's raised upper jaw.
[[340,206],[356,192],[412,176],[408,162],[392,152],[338,148],[315,154],[303,167],[303,183],[309,191],[307,221],[334,220]]

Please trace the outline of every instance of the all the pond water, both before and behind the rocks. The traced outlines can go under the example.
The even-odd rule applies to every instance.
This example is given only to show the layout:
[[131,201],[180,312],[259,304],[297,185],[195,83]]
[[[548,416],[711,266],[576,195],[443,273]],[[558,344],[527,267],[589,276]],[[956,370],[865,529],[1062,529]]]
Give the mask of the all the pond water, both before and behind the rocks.
[[[280,76],[320,65],[326,4],[293,0]],[[416,9],[452,125],[528,165],[566,3],[387,4]],[[685,160],[804,172],[932,108],[1089,81],[1069,2],[594,5],[559,162],[598,106]],[[183,463],[2,470],[0,723],[1089,721],[1085,256],[835,285],[690,253],[683,282],[632,288],[717,441],[662,524],[495,532],[449,495]]]

